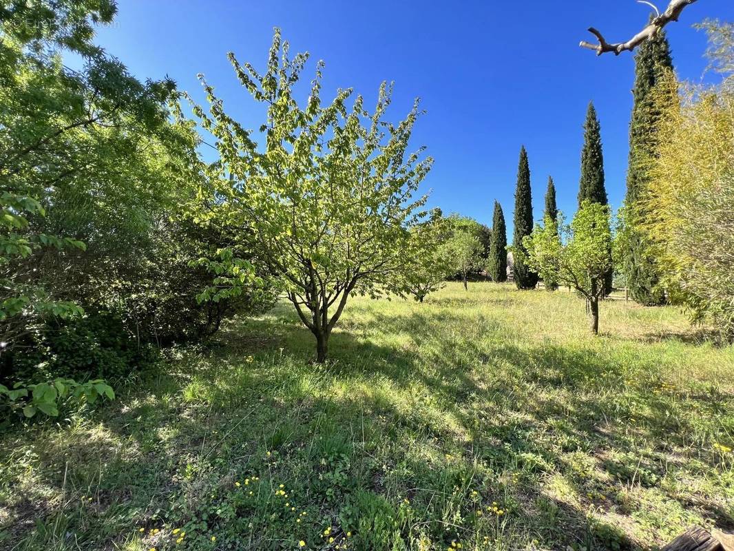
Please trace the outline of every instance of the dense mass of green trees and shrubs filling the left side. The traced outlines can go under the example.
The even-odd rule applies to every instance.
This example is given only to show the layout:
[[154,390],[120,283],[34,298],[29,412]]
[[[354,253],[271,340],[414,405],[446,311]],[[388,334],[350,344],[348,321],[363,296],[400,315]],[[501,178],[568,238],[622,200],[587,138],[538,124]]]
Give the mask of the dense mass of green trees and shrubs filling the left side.
[[[115,10],[108,0],[0,8],[6,380],[34,369],[120,378],[154,357],[148,343],[206,337],[275,298],[264,284],[197,303],[214,275],[189,264],[216,251],[231,228],[192,223],[200,137],[175,84],[140,82],[92,42]],[[80,70],[68,68],[68,54]]]

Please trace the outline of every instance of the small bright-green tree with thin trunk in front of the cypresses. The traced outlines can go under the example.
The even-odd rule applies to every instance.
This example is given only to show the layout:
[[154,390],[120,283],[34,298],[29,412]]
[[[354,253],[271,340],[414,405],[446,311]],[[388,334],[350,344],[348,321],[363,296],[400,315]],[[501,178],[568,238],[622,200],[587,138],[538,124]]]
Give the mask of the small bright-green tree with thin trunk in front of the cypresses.
[[[523,240],[528,264],[542,276],[569,285],[586,298],[593,334],[599,332],[599,301],[611,268],[610,210],[606,205],[584,201],[570,226],[562,228],[551,217],[535,226]],[[562,215],[559,213],[559,220]]]

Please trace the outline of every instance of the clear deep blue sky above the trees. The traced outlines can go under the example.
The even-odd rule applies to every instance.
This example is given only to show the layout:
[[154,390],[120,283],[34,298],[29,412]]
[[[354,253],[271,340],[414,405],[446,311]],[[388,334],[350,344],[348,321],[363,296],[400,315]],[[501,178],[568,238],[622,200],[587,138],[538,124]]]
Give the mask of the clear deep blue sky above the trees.
[[[664,9],[668,0],[653,1]],[[633,0],[120,0],[116,23],[99,31],[98,42],[140,78],[167,74],[197,101],[196,75],[204,73],[228,110],[256,129],[261,109],[239,87],[226,53],[263,68],[272,29],[280,26],[291,52],[310,52],[307,79],[313,61],[326,62],[324,98],[354,87],[370,105],[380,82],[392,80],[389,116],[399,120],[420,96],[427,114],[413,143],[435,157],[423,186],[432,190],[430,204],[491,226],[496,198],[511,239],[522,144],[535,217],[542,217],[549,174],[559,207],[573,213],[589,100],[602,126],[609,200],[621,203],[633,57],[596,57],[578,42],[592,38],[591,25],[609,41],[627,40],[649,13]],[[705,35],[691,25],[706,17],[734,20],[734,2],[700,0],[667,27],[683,78],[702,78]]]

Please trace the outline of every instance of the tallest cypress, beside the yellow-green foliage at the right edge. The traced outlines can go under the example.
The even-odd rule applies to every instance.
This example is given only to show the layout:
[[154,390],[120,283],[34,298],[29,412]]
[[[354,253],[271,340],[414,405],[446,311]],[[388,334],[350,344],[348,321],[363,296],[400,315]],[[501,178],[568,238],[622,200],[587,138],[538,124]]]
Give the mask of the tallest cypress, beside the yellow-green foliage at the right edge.
[[625,251],[622,270],[625,273],[630,296],[646,306],[665,302],[665,295],[657,284],[660,279],[653,256],[647,251],[639,232],[634,229],[635,221],[644,216],[639,205],[641,192],[647,187],[647,165],[654,159],[655,140],[660,109],[655,106],[650,92],[665,71],[672,70],[673,60],[670,46],[661,29],[655,36],[645,40],[635,56],[634,105],[630,123],[630,163],[627,172],[627,195],[625,206],[631,225],[630,246]]

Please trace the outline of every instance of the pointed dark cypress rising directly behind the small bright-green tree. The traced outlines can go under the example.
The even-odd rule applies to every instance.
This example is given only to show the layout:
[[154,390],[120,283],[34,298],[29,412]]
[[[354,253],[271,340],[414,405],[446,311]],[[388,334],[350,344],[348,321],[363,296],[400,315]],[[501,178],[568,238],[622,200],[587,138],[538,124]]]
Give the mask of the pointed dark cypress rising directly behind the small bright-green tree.
[[[604,154],[601,144],[601,126],[594,103],[589,102],[584,123],[584,148],[581,150],[581,181],[578,186],[578,206],[584,201],[608,204],[604,187]],[[611,257],[611,251],[609,251]],[[604,278],[606,295],[611,292],[614,270],[609,270]]]

